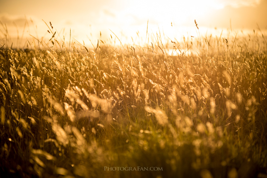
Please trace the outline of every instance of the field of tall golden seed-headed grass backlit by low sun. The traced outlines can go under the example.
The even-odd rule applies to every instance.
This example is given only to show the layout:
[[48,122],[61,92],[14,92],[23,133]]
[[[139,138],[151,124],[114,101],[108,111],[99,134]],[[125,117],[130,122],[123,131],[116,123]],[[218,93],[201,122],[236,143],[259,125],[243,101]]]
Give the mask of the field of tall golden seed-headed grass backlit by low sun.
[[262,33],[89,49],[51,27],[1,41],[1,177],[267,177]]

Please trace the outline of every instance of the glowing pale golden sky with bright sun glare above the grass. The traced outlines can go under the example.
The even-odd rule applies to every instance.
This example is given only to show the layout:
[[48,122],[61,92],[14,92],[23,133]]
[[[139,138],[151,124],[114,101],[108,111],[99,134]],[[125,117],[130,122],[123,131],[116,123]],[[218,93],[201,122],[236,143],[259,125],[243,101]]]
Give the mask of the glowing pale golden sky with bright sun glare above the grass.
[[[123,43],[143,43],[160,32],[169,39],[200,32],[267,29],[267,0],[0,0],[0,38],[23,45],[26,38],[50,38],[53,30],[63,39],[85,44],[115,35]],[[100,36],[101,31],[101,36]],[[115,34],[115,35],[114,35]],[[30,36],[31,35],[31,36]],[[141,44],[142,45],[142,44]]]

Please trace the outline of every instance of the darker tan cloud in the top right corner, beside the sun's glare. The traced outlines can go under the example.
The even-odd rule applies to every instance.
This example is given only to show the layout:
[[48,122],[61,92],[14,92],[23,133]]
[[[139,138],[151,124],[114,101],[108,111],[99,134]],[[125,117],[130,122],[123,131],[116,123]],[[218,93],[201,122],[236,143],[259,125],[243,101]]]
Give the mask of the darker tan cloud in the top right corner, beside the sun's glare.
[[[267,27],[267,1],[237,1],[232,0],[232,5],[217,9],[198,20],[200,25],[210,28],[233,28],[233,29],[266,29]],[[225,1],[227,3],[229,1]],[[254,3],[260,2],[258,5]],[[238,4],[234,6],[234,4]],[[243,4],[241,4],[243,3]],[[249,5],[249,3],[251,3]],[[207,20],[208,19],[208,20]]]

